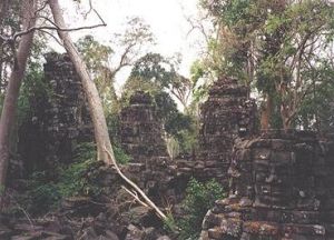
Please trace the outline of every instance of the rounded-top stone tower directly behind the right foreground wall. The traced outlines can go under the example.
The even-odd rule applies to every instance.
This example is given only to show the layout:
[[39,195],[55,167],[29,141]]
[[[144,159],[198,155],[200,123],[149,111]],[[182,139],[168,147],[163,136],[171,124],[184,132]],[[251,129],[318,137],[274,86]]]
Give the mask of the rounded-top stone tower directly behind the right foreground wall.
[[179,176],[216,178],[228,186],[234,139],[256,131],[256,106],[248,92],[248,88],[229,78],[218,79],[212,86],[208,100],[200,108],[199,153],[196,159],[178,160]]

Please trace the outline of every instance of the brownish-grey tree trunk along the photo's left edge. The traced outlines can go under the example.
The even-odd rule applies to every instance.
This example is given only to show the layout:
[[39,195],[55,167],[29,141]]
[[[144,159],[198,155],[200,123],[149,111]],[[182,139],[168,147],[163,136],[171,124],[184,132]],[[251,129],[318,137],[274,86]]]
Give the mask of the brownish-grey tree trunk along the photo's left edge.
[[[36,0],[24,0],[23,8],[23,29],[36,24],[35,11]],[[14,67],[9,78],[6,97],[3,101],[2,113],[0,118],[0,184],[3,188],[6,183],[7,169],[9,163],[10,132],[14,123],[17,103],[22,79],[24,77],[27,60],[33,40],[33,31],[21,37],[19,48],[14,56]]]

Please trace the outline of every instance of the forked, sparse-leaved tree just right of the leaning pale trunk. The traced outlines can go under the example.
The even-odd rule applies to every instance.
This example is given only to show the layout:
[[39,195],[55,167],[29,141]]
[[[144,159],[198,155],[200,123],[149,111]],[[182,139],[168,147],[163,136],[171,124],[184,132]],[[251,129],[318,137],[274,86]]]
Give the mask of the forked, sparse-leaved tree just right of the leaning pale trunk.
[[153,43],[150,27],[138,17],[128,19],[122,32],[115,33],[107,44],[92,36],[85,36],[76,42],[97,84],[106,113],[115,114],[119,109],[115,89],[117,73],[132,66]]

